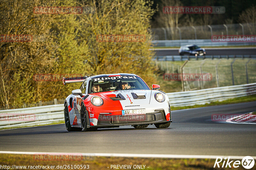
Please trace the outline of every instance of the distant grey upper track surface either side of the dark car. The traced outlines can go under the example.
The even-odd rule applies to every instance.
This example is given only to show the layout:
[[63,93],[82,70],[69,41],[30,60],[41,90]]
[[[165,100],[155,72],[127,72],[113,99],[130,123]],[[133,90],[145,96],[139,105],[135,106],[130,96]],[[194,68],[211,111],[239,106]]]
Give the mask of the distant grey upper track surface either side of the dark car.
[[[156,56],[179,55],[178,49],[156,50]],[[206,55],[255,55],[256,48],[205,49]]]

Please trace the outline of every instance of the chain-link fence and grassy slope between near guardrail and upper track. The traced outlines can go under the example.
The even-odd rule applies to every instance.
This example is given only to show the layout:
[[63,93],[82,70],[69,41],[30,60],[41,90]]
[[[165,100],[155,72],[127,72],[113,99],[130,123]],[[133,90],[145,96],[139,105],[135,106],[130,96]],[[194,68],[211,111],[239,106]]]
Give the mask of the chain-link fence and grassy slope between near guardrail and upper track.
[[184,90],[198,90],[256,82],[256,60],[219,59],[190,60],[182,68],[172,61],[156,61],[164,71],[165,81],[181,81]]

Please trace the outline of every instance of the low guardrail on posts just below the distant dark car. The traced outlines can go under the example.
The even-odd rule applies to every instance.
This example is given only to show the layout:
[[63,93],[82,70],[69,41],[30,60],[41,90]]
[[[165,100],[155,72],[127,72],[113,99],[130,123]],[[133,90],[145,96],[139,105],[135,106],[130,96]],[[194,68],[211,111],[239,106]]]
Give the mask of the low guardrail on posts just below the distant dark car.
[[[178,53],[178,50],[177,50]],[[157,61],[185,61],[185,60],[204,60],[204,59],[255,59],[256,55],[168,55],[168,56],[155,56],[153,60]]]

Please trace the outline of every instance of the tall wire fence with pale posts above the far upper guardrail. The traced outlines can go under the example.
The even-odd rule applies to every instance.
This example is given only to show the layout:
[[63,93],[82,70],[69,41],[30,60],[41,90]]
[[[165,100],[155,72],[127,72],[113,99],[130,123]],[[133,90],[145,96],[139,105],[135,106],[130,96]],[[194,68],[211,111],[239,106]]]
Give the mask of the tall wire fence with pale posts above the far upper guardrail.
[[171,39],[211,39],[212,35],[255,35],[256,23],[183,26],[174,28],[152,28],[153,40]]

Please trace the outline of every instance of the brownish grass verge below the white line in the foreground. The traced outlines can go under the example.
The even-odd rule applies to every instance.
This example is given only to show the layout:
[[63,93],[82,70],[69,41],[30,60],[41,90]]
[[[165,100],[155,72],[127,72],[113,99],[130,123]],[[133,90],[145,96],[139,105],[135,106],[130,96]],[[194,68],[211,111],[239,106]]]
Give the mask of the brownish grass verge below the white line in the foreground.
[[[81,160],[35,160],[34,155],[20,155],[20,154],[0,154],[0,165],[7,165],[12,167],[15,166],[55,166],[50,169],[61,169],[56,168],[58,165],[66,165],[67,169],[78,169],[74,168],[76,165],[89,165],[89,169],[101,169],[109,170],[111,165],[131,165],[131,169],[140,169],[135,167],[145,165],[146,170],[172,170],[172,169],[213,169],[215,159],[144,159],[144,158],[116,158],[116,157],[83,157]],[[71,165],[73,168],[71,168]],[[220,165],[222,166],[222,165]],[[25,169],[15,168],[15,169]],[[26,167],[26,169],[29,169]],[[31,168],[30,168],[31,169]],[[34,168],[33,168],[34,169]],[[38,168],[40,169],[40,168]],[[43,169],[41,167],[41,169]],[[47,169],[47,168],[45,168]],[[65,169],[65,168],[63,168]],[[116,168],[115,168],[116,169]],[[122,168],[120,168],[122,169]],[[124,169],[124,168],[123,168]],[[142,168],[144,169],[144,168]],[[223,168],[224,169],[224,168]],[[236,169],[242,169],[240,165]]]

